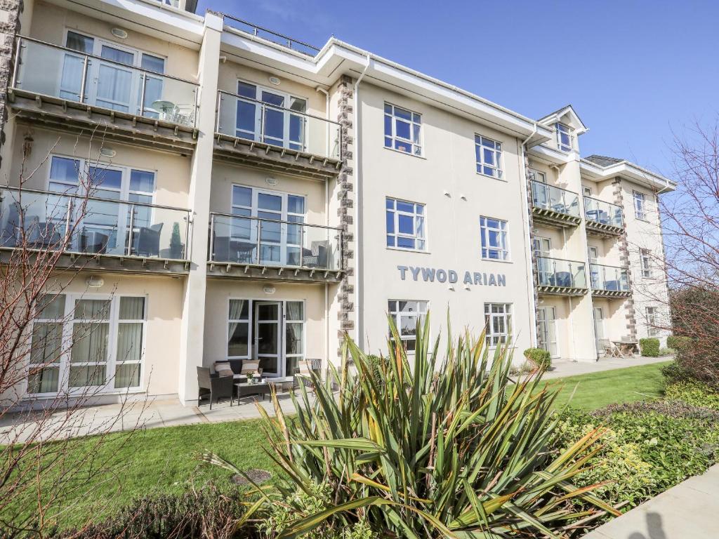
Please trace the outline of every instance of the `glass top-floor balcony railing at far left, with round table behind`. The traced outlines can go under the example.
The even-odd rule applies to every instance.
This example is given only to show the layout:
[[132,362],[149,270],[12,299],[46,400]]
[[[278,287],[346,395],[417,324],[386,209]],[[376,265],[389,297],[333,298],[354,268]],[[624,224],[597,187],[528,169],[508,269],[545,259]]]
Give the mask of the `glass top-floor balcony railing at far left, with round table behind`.
[[196,126],[196,83],[29,37],[21,37],[17,47],[13,88]]

